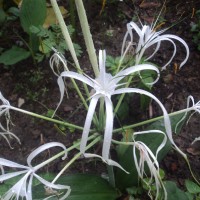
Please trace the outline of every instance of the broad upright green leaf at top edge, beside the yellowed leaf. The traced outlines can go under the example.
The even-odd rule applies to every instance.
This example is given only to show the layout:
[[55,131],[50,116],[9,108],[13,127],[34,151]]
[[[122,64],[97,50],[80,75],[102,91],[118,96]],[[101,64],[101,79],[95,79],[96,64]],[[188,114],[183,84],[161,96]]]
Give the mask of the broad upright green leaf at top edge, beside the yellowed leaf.
[[43,25],[46,18],[46,0],[23,0],[20,8],[21,25],[30,33],[30,26]]

